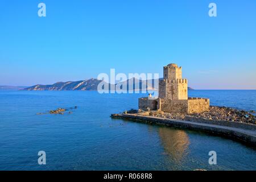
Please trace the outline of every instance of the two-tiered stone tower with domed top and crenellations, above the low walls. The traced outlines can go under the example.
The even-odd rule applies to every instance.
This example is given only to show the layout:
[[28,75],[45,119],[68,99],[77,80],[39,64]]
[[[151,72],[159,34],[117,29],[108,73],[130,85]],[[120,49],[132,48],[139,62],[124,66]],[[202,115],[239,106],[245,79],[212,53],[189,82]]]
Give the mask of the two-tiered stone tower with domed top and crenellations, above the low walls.
[[163,80],[159,82],[159,97],[167,100],[188,100],[188,81],[182,78],[181,67],[176,64],[163,67]]

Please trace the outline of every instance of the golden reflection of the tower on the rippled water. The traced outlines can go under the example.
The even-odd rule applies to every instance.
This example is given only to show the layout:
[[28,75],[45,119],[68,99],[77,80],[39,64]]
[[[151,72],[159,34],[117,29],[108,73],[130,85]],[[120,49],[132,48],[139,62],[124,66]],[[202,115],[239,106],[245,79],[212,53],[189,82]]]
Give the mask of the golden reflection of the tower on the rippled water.
[[189,138],[183,130],[159,127],[159,137],[164,147],[164,154],[175,162],[181,162],[188,155]]

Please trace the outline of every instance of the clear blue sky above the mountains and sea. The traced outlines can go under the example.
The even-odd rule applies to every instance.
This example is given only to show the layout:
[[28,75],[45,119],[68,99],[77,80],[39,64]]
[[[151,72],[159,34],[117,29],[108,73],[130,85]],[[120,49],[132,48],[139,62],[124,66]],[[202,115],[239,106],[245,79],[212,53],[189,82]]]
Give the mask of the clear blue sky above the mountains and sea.
[[[46,17],[38,4],[46,4]],[[209,3],[217,16],[208,15]],[[159,73],[195,89],[256,89],[255,0],[0,1],[0,85]]]

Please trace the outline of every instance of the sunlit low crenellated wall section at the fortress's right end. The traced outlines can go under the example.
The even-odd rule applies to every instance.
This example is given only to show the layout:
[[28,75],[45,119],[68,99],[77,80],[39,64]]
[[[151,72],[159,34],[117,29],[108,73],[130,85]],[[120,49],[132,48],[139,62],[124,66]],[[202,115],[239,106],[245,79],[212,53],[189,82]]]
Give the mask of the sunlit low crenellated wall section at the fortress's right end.
[[208,98],[188,98],[188,113],[202,113],[209,111],[210,100]]

